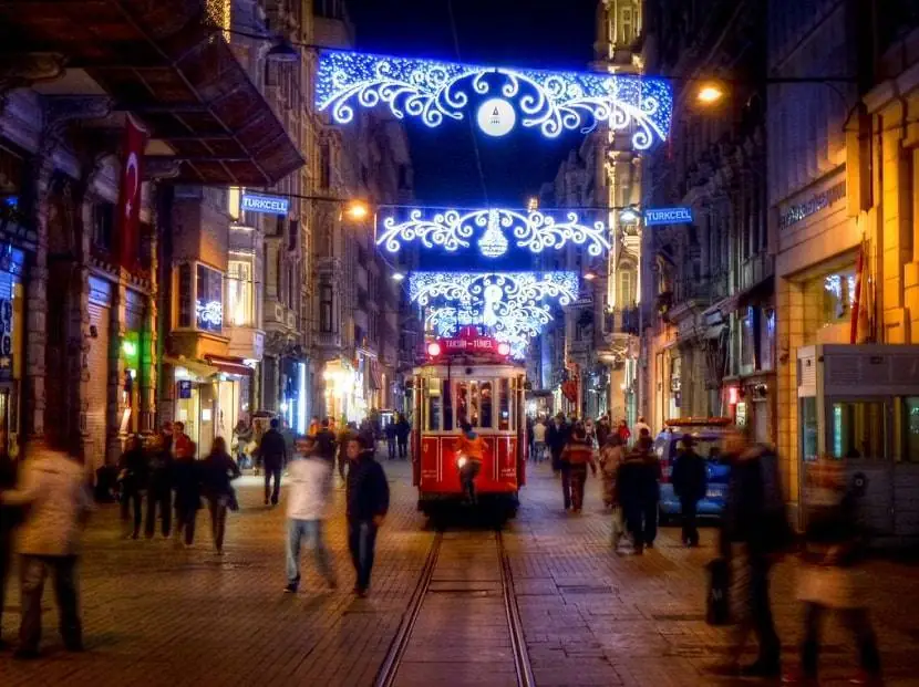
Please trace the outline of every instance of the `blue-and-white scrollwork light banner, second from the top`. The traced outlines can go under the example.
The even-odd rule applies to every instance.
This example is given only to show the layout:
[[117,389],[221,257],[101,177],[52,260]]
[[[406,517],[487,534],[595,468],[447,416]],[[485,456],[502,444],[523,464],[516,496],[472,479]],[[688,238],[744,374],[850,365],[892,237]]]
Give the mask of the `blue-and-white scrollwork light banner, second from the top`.
[[451,252],[469,248],[477,231],[477,246],[483,256],[498,258],[507,252],[509,231],[520,248],[535,253],[561,249],[568,243],[587,244],[587,252],[600,256],[609,250],[607,227],[602,221],[588,223],[571,210],[526,211],[489,208],[460,210],[448,208],[409,208],[407,218],[399,208],[378,212],[376,244],[397,252],[403,243],[421,241],[425,248],[443,248]]

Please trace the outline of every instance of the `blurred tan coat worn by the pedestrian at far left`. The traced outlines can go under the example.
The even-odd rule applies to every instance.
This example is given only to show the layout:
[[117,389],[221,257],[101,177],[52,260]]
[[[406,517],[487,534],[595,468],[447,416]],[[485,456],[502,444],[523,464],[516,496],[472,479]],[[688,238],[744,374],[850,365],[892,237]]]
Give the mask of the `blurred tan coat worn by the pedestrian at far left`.
[[74,555],[82,522],[92,510],[83,466],[65,454],[39,451],[24,464],[20,485],[0,493],[4,506],[28,506],[18,551],[31,555]]

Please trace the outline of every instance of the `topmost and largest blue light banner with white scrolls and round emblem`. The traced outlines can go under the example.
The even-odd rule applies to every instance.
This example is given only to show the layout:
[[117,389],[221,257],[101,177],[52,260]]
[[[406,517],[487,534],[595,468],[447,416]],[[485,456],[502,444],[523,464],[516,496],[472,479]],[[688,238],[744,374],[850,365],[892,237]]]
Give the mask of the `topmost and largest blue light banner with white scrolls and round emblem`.
[[608,124],[628,131],[638,150],[665,140],[673,116],[673,94],[661,79],[320,52],[316,104],[339,124],[351,122],[355,107],[385,105],[399,118],[434,127],[445,117],[463,119],[473,98],[475,119],[489,136],[503,136],[518,123],[549,138]]

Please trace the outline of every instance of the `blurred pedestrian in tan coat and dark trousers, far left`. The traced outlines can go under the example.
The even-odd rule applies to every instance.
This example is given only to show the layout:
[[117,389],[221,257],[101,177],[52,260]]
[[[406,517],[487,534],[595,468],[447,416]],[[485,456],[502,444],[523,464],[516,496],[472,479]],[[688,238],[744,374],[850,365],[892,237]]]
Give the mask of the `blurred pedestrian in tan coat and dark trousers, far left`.
[[83,627],[76,601],[76,562],[82,524],[92,503],[83,466],[66,454],[39,445],[19,487],[0,492],[0,503],[24,506],[18,551],[21,621],[16,658],[37,658],[41,639],[41,597],[49,572],[64,647],[83,650]]

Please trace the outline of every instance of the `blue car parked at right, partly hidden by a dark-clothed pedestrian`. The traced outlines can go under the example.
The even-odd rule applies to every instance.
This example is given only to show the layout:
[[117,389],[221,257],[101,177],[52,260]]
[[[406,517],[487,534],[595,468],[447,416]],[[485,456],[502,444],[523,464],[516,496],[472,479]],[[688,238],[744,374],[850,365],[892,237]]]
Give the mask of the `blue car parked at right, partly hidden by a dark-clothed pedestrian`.
[[695,452],[705,459],[708,467],[708,489],[705,498],[699,502],[699,516],[716,518],[724,512],[730,468],[722,458],[722,443],[730,421],[721,417],[669,420],[657,436],[654,452],[661,464],[661,522],[680,514],[680,499],[673,492],[670,473],[683,437],[692,437]]

